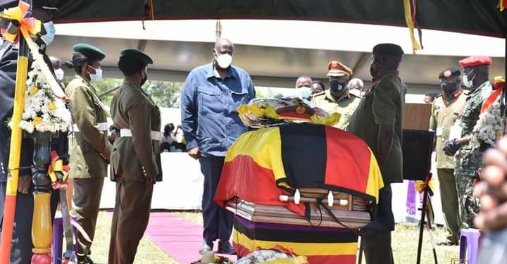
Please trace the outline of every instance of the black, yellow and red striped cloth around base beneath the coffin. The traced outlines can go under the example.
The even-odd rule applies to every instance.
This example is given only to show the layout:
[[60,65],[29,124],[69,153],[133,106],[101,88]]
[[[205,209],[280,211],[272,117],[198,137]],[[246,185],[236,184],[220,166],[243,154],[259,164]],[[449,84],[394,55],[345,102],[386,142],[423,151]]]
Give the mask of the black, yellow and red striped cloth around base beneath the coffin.
[[283,246],[311,264],[356,263],[358,234],[351,230],[251,222],[236,215],[232,244],[239,257]]

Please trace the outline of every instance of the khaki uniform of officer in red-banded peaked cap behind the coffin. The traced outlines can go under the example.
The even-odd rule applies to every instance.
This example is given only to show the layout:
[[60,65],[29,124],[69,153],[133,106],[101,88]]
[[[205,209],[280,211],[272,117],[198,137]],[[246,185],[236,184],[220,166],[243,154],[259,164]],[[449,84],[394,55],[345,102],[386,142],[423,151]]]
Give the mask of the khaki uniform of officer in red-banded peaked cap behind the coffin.
[[330,113],[340,113],[342,116],[334,127],[345,130],[349,125],[351,116],[354,111],[356,111],[356,108],[358,108],[361,97],[349,93],[348,96],[347,94],[344,94],[339,99],[334,99],[331,91],[327,89],[324,92],[313,95],[311,97],[311,101],[312,103],[315,103],[316,106],[323,108],[325,111]]

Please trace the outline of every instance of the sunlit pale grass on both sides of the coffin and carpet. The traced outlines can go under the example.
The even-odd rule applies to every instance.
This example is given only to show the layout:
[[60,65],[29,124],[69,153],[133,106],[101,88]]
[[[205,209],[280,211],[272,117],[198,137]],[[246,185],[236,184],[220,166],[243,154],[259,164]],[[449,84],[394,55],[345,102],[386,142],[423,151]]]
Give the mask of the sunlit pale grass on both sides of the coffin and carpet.
[[[202,223],[202,216],[199,211],[181,211],[173,214],[182,218],[187,218],[196,223]],[[94,245],[92,246],[92,259],[97,263],[106,263],[109,247],[109,232],[111,228],[111,214],[106,212],[99,213]],[[435,243],[445,241],[446,232],[437,228],[434,230]],[[415,263],[417,256],[419,230],[415,224],[398,224],[393,232],[392,248],[394,252],[394,263],[411,264]],[[437,256],[439,263],[449,264],[453,258],[458,258],[458,246],[437,246]],[[423,253],[421,263],[432,264],[433,254],[430,244],[430,234],[425,231],[423,241]],[[158,246],[144,237],[139,244],[135,263],[178,263],[168,256]],[[363,261],[365,263],[365,261]],[[186,263],[185,263],[186,264]]]

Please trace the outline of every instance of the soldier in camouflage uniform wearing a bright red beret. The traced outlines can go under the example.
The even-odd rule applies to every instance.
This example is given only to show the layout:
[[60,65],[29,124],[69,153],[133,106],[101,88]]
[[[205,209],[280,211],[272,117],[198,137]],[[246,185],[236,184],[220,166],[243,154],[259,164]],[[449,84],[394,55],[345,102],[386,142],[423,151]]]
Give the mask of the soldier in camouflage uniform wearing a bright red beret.
[[[470,93],[461,111],[461,138],[449,139],[444,143],[444,152],[455,156],[455,177],[458,189],[458,201],[461,211],[461,227],[473,227],[473,218],[479,210],[477,199],[472,196],[473,183],[477,179],[477,170],[482,167],[482,153],[491,146],[472,149],[468,145],[472,130],[479,120],[482,103],[492,94],[489,82],[489,65],[492,59],[487,56],[472,56],[461,60],[463,85]],[[458,153],[456,153],[458,152]]]

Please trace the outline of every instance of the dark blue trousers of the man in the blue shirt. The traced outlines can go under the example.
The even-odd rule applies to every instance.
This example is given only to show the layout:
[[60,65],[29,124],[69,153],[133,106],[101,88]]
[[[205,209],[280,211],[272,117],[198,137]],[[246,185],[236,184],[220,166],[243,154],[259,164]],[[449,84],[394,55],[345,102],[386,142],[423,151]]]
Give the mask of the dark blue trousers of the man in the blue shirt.
[[204,193],[202,199],[203,238],[208,244],[211,244],[216,239],[229,241],[232,233],[234,214],[221,208],[213,201],[224,160],[224,157],[218,156],[199,157],[201,172],[204,175]]

